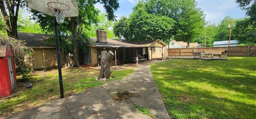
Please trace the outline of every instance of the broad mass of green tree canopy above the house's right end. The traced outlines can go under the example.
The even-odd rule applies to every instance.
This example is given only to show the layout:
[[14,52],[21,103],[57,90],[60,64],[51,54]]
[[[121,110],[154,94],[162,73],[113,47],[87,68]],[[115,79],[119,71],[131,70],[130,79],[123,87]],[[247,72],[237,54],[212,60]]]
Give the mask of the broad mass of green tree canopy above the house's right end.
[[[194,0],[146,0],[133,8],[129,18],[121,18],[114,33],[126,40],[170,39],[189,42],[205,25],[204,14]],[[122,28],[121,28],[122,27]]]

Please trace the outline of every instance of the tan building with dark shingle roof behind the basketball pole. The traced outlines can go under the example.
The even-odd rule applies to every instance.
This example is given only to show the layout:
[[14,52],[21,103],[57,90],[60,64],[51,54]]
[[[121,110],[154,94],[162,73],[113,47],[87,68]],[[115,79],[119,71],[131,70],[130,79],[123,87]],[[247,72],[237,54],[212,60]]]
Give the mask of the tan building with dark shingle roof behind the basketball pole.
[[[47,39],[52,35],[37,33],[18,33],[18,39],[24,40],[27,47],[33,48],[34,54],[25,56],[25,63],[31,69],[45,69],[57,67],[55,42]],[[63,48],[60,49],[61,64],[65,64]]]

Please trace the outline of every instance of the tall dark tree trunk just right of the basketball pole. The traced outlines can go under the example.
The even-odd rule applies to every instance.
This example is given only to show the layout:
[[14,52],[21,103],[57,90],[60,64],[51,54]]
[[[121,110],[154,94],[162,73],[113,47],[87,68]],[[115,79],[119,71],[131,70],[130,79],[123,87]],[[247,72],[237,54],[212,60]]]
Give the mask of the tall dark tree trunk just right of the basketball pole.
[[73,41],[73,65],[71,67],[79,67],[78,62],[78,47],[77,47],[77,18],[72,19],[72,41]]

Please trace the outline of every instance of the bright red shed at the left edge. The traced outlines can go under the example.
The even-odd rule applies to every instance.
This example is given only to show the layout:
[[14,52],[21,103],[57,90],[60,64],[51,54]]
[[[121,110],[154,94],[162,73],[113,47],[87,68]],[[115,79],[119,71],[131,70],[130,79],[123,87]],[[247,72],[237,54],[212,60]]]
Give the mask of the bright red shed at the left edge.
[[10,47],[0,46],[0,96],[9,96],[17,83],[13,52]]

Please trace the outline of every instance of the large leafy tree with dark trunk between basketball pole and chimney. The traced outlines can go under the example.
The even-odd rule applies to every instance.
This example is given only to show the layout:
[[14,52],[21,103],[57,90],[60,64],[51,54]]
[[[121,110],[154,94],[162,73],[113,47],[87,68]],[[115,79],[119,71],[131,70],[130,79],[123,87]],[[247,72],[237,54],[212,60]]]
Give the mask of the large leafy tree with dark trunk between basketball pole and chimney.
[[[78,67],[78,38],[83,33],[83,28],[89,28],[91,24],[98,23],[99,10],[94,7],[96,3],[103,4],[108,20],[114,20],[114,12],[119,7],[117,0],[78,0],[79,16],[67,18],[66,22],[59,25],[62,34],[70,33],[73,41],[73,67]],[[53,32],[53,18],[49,15],[33,12],[33,18],[41,25],[42,29]]]

